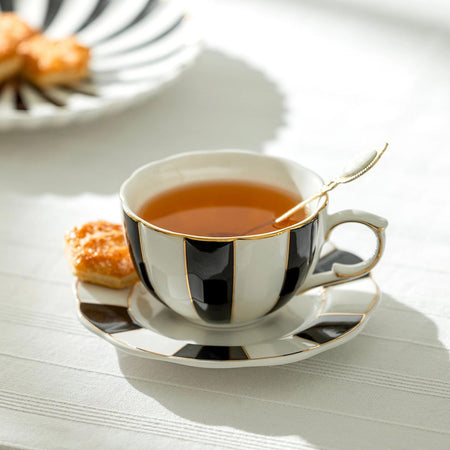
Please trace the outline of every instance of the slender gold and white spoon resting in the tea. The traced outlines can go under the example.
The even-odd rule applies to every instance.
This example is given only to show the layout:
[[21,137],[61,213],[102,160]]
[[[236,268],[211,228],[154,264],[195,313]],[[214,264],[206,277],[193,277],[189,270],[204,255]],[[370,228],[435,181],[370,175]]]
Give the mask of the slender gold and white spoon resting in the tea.
[[275,220],[271,220],[270,222],[266,222],[256,227],[253,227],[250,230],[248,230],[245,234],[248,235],[249,233],[258,230],[259,228],[262,228],[266,225],[270,225],[271,223],[279,224],[288,219],[289,217],[291,217],[300,209],[304,208],[308,203],[311,203],[312,201],[317,200],[318,198],[325,195],[327,192],[332,191],[336,186],[356,180],[357,178],[368,172],[379,161],[383,153],[388,148],[388,145],[389,144],[386,143],[386,145],[382,150],[372,150],[370,152],[363,152],[354,156],[346,164],[342,173],[338,177],[329,181],[327,184],[324,184],[319,192],[312,195],[311,197],[308,197],[306,200],[297,203],[297,205],[295,205],[289,211],[286,211],[281,216],[277,217]]

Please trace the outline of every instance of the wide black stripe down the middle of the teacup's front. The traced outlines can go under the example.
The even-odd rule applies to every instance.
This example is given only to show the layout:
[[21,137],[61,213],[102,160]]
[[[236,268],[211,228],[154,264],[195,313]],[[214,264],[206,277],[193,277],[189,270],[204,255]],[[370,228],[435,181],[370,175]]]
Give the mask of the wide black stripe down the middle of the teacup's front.
[[233,306],[234,244],[185,239],[192,302],[210,323],[229,323]]

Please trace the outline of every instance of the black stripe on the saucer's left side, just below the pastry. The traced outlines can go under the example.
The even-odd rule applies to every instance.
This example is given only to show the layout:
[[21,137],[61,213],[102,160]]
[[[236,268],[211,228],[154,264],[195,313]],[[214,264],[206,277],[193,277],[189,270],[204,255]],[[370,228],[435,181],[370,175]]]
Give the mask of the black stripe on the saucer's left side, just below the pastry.
[[118,333],[142,328],[128,314],[124,306],[80,303],[81,314],[105,333]]

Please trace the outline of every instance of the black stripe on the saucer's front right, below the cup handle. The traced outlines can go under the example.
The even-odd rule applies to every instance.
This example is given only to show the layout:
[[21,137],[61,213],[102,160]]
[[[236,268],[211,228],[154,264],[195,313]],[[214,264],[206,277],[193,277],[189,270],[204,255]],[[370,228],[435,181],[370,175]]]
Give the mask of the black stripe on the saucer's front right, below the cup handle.
[[325,344],[355,328],[362,318],[362,314],[319,316],[306,330],[296,334],[296,336],[318,344]]

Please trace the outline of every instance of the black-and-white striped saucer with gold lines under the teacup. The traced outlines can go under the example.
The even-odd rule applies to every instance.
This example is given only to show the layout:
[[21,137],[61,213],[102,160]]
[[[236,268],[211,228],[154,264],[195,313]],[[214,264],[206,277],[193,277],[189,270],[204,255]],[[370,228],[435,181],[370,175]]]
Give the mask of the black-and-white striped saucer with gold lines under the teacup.
[[[316,272],[360,259],[334,249]],[[162,305],[138,282],[114,290],[76,282],[81,322],[127,353],[195,367],[232,368],[287,364],[354,338],[380,293],[372,277],[297,295],[279,311],[232,330],[191,323]]]

